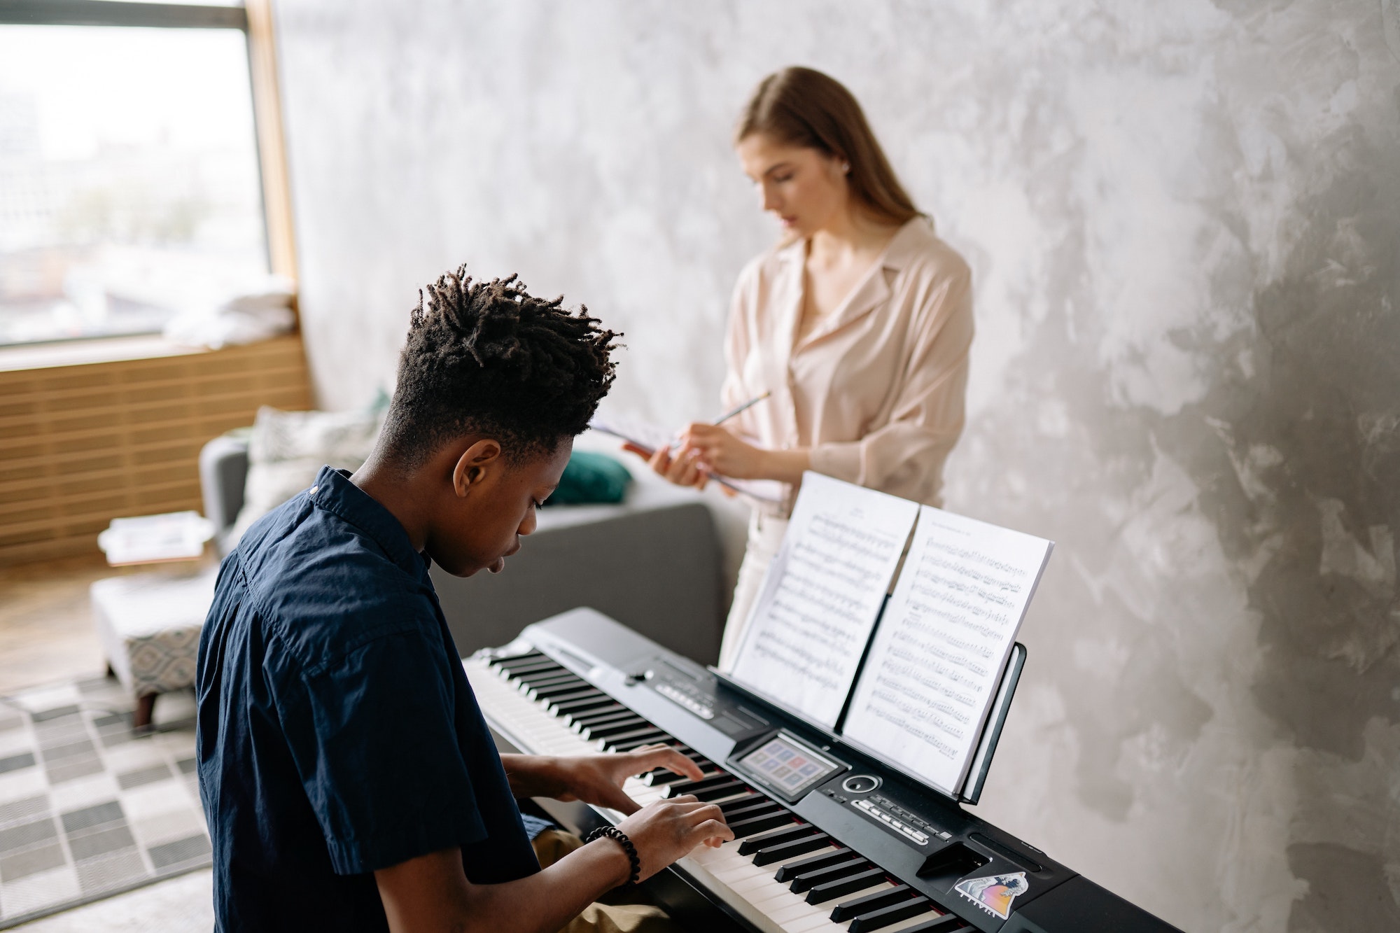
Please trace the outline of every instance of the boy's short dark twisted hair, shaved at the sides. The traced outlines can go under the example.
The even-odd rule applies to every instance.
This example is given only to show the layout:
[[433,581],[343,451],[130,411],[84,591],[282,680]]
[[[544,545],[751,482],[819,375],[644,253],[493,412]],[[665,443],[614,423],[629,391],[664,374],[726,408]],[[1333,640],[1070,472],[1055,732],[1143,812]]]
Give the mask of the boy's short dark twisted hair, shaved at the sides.
[[612,387],[620,336],[564,298],[543,301],[512,275],[473,283],[466,266],[427,287],[409,319],[384,426],[395,459],[421,465],[462,434],[487,434],[518,459],[552,452],[588,426]]

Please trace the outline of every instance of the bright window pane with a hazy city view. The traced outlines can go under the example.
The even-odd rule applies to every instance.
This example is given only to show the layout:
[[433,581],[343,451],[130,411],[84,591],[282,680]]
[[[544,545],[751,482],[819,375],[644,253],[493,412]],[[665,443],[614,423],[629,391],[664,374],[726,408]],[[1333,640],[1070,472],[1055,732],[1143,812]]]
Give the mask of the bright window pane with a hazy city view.
[[157,332],[265,237],[241,31],[0,27],[0,343]]

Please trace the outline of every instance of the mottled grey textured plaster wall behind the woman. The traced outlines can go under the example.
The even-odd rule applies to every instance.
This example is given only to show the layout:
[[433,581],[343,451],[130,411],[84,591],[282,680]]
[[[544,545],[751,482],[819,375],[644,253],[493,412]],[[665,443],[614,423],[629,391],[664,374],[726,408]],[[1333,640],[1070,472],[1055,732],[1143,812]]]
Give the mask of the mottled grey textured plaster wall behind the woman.
[[322,401],[416,286],[521,272],[714,412],[787,63],[976,270],[951,509],[1060,542],[981,811],[1189,930],[1400,929],[1396,0],[281,0]]

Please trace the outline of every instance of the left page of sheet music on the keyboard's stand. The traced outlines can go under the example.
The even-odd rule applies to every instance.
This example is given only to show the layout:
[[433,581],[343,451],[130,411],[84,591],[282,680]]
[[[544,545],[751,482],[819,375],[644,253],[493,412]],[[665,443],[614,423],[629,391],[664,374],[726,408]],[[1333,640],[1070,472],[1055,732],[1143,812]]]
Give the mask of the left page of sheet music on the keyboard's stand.
[[833,728],[918,506],[804,474],[731,677]]

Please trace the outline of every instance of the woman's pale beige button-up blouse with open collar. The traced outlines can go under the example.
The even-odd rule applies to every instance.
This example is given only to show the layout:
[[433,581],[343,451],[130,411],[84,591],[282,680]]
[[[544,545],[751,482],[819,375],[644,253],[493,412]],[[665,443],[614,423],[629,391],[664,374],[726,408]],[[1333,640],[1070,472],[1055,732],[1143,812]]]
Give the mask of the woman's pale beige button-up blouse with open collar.
[[[972,272],[914,217],[846,301],[798,345],[805,242],[739,275],[725,342],[725,408],[771,391],[739,415],[739,433],[770,448],[809,447],[812,469],[941,504],[944,461],[963,427],[972,346]],[[787,503],[766,509],[787,514]]]

